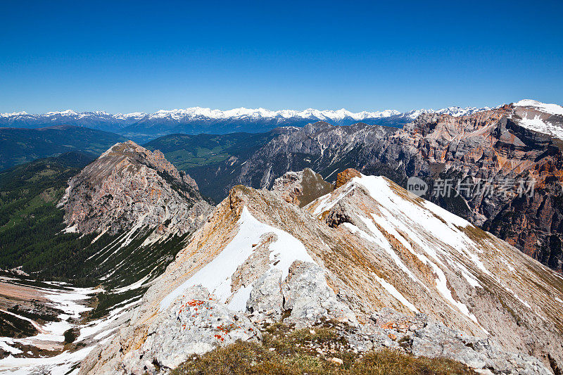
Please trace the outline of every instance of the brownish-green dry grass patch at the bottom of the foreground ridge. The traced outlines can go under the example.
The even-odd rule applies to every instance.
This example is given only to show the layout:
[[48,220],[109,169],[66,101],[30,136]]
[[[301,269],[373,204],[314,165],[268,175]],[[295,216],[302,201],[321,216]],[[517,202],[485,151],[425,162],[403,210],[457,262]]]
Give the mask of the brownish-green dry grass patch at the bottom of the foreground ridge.
[[[474,374],[460,362],[413,357],[398,350],[362,356],[349,350],[346,341],[326,327],[291,331],[276,324],[267,332],[261,343],[238,341],[205,355],[194,355],[172,374]],[[335,364],[333,358],[341,360],[341,364]]]

